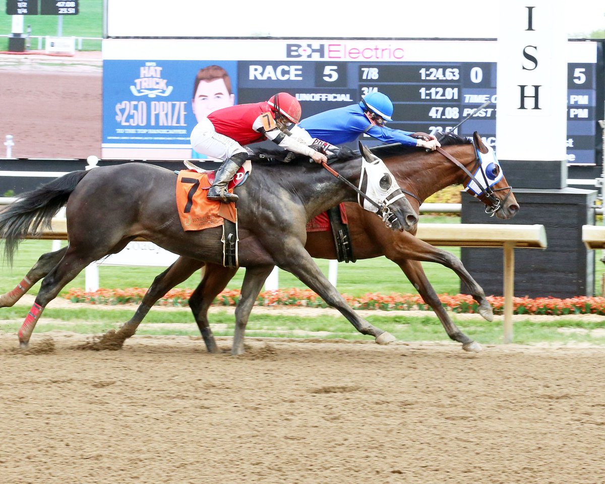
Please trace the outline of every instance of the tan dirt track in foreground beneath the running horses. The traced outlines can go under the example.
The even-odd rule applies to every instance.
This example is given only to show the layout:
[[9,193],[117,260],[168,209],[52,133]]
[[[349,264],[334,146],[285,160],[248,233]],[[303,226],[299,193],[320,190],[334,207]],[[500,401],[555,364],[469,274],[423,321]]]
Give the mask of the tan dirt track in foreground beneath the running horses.
[[[0,336],[0,483],[603,483],[605,350]],[[229,339],[220,344],[229,348]]]

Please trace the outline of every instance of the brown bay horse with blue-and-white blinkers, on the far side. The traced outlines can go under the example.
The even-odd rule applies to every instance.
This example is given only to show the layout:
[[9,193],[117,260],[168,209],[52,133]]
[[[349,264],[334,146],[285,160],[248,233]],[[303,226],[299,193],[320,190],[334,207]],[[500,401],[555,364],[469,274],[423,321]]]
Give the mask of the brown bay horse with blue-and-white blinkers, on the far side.
[[[453,155],[464,168],[471,169],[473,174],[479,173],[480,155],[478,153],[481,156],[488,154],[488,149],[483,145],[478,134],[474,135],[474,145],[468,140],[451,135],[442,140],[442,145],[447,154]],[[379,146],[373,148],[373,151],[384,159],[385,164],[399,182],[399,186],[404,188],[408,194],[411,194],[408,200],[410,200],[416,213],[422,201],[448,185],[463,183],[469,191],[473,189],[473,186],[469,187],[473,181],[469,175],[457,166],[453,160],[446,159],[442,154],[436,152],[427,154],[424,151],[402,146]],[[486,157],[486,163],[484,164],[489,167],[490,160],[488,157]],[[493,167],[488,170],[489,175],[493,178],[491,181],[495,181],[495,178],[497,178],[493,177],[493,170]],[[485,169],[483,169],[481,175],[477,175],[479,176],[477,181],[480,182],[484,174]],[[485,183],[483,184],[488,186],[491,181],[485,175]],[[473,192],[473,194],[475,193]],[[488,196],[489,194],[492,195]],[[487,191],[484,191],[483,194],[479,191],[478,196],[486,204],[486,212],[493,212],[499,218],[514,217],[518,211],[517,201],[506,184],[503,175],[502,179],[498,180]],[[491,321],[493,313],[483,289],[466,271],[459,258],[450,252],[433,247],[414,237],[415,229],[412,232],[391,232],[381,223],[376,223],[376,220],[374,220],[376,217],[372,217],[363,211],[357,204],[346,203],[345,206],[355,257],[367,259],[385,255],[385,257],[394,261],[416,287],[422,299],[434,310],[448,336],[454,341],[461,342],[465,350],[480,350],[480,345],[463,334],[451,321],[439,297],[427,280],[420,263],[420,261],[436,262],[454,270],[460,279],[465,282],[473,298],[479,303],[479,313],[485,319]],[[305,248],[314,258],[336,258],[336,250],[330,232],[309,232]],[[67,248],[42,255],[18,287],[10,293],[0,295],[0,307],[13,306],[31,285],[44,277],[58,263],[65,250]],[[134,334],[155,301],[168,292],[171,287],[185,281],[201,266],[203,264],[197,260],[186,257],[179,258],[171,267],[155,278],[132,319],[126,322],[119,332],[108,334],[106,337],[113,338],[116,347],[119,347],[121,342]],[[189,301],[195,321],[208,349],[211,351],[211,348],[216,348],[216,346],[214,340],[209,336],[211,333],[209,333],[208,308],[214,301],[215,296],[226,287],[236,271],[237,269],[229,269],[221,265],[206,264],[200,286],[195,290]]]

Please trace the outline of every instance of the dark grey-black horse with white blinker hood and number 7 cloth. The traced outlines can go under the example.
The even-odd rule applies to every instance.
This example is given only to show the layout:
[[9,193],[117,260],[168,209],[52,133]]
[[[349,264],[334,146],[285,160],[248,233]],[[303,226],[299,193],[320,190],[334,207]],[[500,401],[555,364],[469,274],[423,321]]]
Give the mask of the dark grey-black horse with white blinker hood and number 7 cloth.
[[[247,270],[235,311],[239,332],[232,347],[234,355],[243,353],[250,311],[275,265],[296,275],[362,334],[374,336],[381,344],[394,340],[348,306],[304,249],[307,220],[342,201],[355,201],[359,192],[372,194],[370,201],[361,198],[360,203],[380,213],[392,230],[409,231],[416,226],[417,215],[393,175],[361,143],[359,147],[362,154],[338,157],[330,163],[349,184],[307,158],[289,164],[256,163],[246,183],[236,188],[241,199],[238,261]],[[25,235],[50,224],[53,215],[66,206],[69,244],[42,281],[19,330],[22,347],[27,347],[45,306],[65,284],[88,264],[119,252],[134,238],[145,238],[191,260],[222,263],[222,227],[183,231],[175,201],[176,180],[175,172],[143,163],[71,172],[24,194],[0,214],[0,237],[11,262]],[[355,189],[358,185],[361,190]]]

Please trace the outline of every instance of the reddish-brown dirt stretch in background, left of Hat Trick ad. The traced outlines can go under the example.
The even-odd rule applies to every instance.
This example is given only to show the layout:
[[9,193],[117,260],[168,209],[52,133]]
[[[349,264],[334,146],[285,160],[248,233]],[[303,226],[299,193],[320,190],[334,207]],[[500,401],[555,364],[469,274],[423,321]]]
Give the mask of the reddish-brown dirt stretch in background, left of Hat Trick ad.
[[14,158],[100,157],[102,73],[98,52],[0,54],[0,157],[7,134]]

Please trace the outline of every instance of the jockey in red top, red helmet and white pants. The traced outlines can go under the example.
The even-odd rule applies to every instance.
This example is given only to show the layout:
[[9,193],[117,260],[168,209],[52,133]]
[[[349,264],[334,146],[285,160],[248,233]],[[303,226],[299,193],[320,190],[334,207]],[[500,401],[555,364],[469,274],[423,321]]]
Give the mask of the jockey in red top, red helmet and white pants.
[[298,123],[300,117],[298,100],[291,94],[278,93],[268,101],[229,106],[201,119],[191,132],[191,147],[198,153],[224,160],[208,198],[225,203],[238,199],[227,192],[227,184],[248,156],[242,145],[269,139],[288,151],[309,156],[316,163],[327,161],[324,154],[293,137],[287,129],[288,125]]

